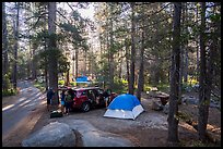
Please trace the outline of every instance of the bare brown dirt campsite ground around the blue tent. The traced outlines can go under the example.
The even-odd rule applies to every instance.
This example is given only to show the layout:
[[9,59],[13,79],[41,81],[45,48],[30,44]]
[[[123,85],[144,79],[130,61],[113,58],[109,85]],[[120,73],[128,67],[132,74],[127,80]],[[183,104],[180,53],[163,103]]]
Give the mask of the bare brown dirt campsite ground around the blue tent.
[[[191,95],[190,95],[191,96]],[[197,96],[197,95],[192,95]],[[83,113],[74,111],[70,115],[66,115],[59,119],[72,119],[72,120],[85,120],[90,122],[96,128],[117,134],[133,142],[136,147],[166,147],[167,140],[167,114],[162,111],[154,111],[151,109],[152,99],[146,95],[142,95],[141,104],[144,108],[142,112],[134,121],[104,117],[106,109],[94,109],[90,112]],[[195,104],[180,104],[178,111],[187,113],[192,116],[192,120],[197,121],[198,107]],[[39,117],[39,113],[40,117]],[[32,123],[32,120],[38,116],[39,120],[36,123]],[[24,122],[24,126],[21,126],[9,135],[9,137],[2,140],[3,146],[21,146],[23,139],[28,134],[40,129],[43,126],[55,122],[58,119],[49,119],[49,112],[46,109],[46,102],[39,105]],[[209,110],[209,124],[208,129],[218,136],[221,140],[221,111],[215,108]],[[216,147],[220,144],[200,144],[198,140],[197,131],[185,121],[179,120],[178,124],[178,137],[180,140],[179,146],[192,147],[192,146],[210,146]],[[221,141],[220,141],[221,142]],[[81,145],[77,145],[81,146]]]

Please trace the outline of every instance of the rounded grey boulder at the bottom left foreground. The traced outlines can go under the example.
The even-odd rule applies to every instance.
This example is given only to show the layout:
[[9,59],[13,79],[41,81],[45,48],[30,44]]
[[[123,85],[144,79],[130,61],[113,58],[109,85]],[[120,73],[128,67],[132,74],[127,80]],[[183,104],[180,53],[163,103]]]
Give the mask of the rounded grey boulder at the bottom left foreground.
[[75,147],[75,135],[69,125],[54,122],[23,140],[22,147]]

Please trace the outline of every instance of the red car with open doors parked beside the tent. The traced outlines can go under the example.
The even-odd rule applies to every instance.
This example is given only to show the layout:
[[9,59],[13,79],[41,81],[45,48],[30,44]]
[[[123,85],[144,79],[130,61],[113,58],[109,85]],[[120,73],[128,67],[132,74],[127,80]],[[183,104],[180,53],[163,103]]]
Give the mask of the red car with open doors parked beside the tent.
[[70,90],[73,99],[72,109],[80,109],[83,112],[87,112],[94,108],[105,108],[104,90],[99,87],[86,87],[86,88],[60,88],[59,90]]

